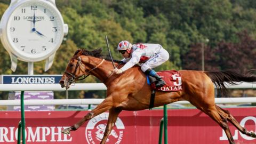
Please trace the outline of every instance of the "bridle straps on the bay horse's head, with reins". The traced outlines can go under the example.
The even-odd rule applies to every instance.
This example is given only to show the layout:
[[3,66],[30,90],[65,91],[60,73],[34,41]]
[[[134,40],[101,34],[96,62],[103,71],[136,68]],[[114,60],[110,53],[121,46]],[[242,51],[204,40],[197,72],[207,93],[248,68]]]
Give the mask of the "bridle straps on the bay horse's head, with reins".
[[[74,59],[74,58],[72,58],[72,59]],[[71,60],[72,60],[72,59],[71,59]],[[90,69],[89,71],[86,71],[86,69],[85,69],[85,67],[84,67],[84,64],[82,63],[82,60],[81,60],[81,57],[80,57],[80,56],[78,57],[78,59],[74,59],[74,60],[77,60],[74,73],[69,73],[69,72],[67,72],[67,71],[64,72],[64,73],[66,73],[66,74],[72,76],[72,77],[68,80],[67,83],[75,83],[75,81],[81,81],[81,80],[85,79],[87,76],[90,75],[89,73],[90,73],[92,70],[97,69],[97,68],[105,61],[105,59],[102,59],[102,61],[101,61],[97,66],[95,66],[94,68]],[[82,75],[81,77],[76,77],[76,76],[75,76],[78,66],[82,66],[82,67],[84,68],[84,75]],[[86,74],[87,74],[87,75],[86,75]]]

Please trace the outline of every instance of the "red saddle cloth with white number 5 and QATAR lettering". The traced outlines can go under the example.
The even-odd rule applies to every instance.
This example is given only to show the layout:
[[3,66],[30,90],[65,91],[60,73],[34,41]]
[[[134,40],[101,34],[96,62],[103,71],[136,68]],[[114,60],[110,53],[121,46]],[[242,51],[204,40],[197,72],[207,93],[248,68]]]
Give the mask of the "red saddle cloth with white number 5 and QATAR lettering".
[[181,76],[177,70],[164,70],[157,72],[157,74],[163,78],[165,85],[156,88],[154,83],[150,84],[149,77],[147,76],[147,82],[151,85],[152,89],[165,92],[182,91]]

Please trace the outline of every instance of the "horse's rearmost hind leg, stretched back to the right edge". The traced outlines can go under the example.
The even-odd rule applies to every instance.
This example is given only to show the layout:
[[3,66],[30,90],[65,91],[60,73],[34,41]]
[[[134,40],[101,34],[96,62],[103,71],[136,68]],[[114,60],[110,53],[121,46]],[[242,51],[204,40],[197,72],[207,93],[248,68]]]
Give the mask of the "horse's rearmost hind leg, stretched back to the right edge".
[[253,131],[250,131],[250,132],[249,132],[249,131],[247,131],[244,127],[242,127],[242,126],[236,121],[236,119],[229,113],[228,110],[222,109],[221,107],[219,107],[219,106],[217,106],[217,105],[216,105],[215,107],[217,108],[218,113],[219,113],[220,115],[226,116],[227,119],[228,119],[228,121],[229,121],[230,123],[232,123],[239,131],[241,131],[243,134],[246,134],[246,135],[248,135],[248,136],[250,136],[250,137],[256,138],[255,132],[253,132]]

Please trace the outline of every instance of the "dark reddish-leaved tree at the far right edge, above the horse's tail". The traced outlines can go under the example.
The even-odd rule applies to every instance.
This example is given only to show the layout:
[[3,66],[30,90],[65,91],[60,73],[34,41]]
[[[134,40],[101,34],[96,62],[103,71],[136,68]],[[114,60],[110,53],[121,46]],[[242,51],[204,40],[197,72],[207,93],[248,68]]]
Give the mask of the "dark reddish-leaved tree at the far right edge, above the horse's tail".
[[249,36],[247,31],[237,35],[238,43],[220,42],[218,44],[219,66],[221,69],[238,69],[239,71],[255,68],[256,41]]

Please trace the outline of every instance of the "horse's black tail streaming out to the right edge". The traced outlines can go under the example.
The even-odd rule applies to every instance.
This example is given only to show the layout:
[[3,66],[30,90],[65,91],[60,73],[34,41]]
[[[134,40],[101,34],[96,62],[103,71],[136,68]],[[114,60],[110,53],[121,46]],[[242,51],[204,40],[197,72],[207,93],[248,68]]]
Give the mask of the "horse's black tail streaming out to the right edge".
[[240,74],[235,70],[205,71],[204,73],[209,76],[212,82],[219,88],[222,96],[227,96],[228,94],[224,82],[229,84],[239,84],[236,82],[256,82],[256,76],[249,73],[249,71],[244,74]]

